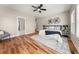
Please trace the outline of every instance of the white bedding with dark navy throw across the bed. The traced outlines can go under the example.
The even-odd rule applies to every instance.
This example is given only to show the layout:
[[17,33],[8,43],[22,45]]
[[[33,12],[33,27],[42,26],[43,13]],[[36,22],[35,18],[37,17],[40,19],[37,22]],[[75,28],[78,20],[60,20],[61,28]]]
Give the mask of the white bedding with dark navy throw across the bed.
[[61,33],[58,31],[47,31],[47,30],[41,30],[39,32],[39,35],[44,37],[45,39],[52,39],[54,38],[56,41],[62,44],[62,38]]

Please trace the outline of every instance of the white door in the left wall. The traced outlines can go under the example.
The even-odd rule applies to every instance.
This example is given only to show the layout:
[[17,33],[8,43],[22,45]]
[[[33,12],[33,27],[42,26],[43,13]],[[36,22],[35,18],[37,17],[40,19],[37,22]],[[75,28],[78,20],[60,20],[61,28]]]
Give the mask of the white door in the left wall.
[[18,35],[25,34],[25,18],[18,17],[18,19],[17,19],[17,32],[18,32]]

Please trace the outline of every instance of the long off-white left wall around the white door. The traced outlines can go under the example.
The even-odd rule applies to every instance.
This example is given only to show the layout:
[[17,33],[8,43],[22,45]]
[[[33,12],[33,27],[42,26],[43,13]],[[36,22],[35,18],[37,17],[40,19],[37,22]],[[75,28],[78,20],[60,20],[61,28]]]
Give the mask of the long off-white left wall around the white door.
[[[2,10],[1,10],[2,9]],[[12,9],[0,9],[0,29],[17,35],[17,16],[26,17],[26,34],[35,31],[35,18],[28,14],[20,13]]]

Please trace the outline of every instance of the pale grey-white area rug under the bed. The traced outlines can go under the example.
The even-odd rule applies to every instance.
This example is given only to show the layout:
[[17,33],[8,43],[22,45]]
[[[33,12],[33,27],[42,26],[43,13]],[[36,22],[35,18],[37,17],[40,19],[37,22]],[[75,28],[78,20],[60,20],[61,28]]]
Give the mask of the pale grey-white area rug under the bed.
[[35,41],[38,41],[38,42],[46,45],[47,47],[50,47],[50,48],[62,53],[62,54],[71,54],[66,37],[62,37],[62,40],[63,40],[62,44],[58,43],[54,39],[52,39],[52,40],[44,39],[40,35],[33,35],[31,38],[34,39]]

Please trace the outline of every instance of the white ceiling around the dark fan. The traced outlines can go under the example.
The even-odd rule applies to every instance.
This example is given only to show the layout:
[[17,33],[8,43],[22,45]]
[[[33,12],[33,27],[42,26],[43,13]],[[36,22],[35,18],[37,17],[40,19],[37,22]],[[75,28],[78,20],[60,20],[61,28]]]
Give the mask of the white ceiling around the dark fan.
[[39,12],[33,12],[34,8],[32,5],[38,6],[39,4],[7,4],[7,5],[0,5],[2,7],[7,7],[22,13],[30,14],[35,17],[44,17],[44,16],[50,16],[55,15],[61,12],[68,11],[71,4],[44,4],[43,8],[46,9],[46,11]]

